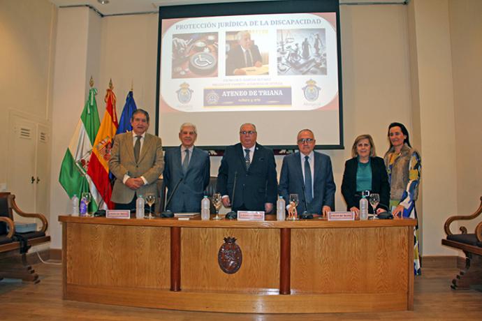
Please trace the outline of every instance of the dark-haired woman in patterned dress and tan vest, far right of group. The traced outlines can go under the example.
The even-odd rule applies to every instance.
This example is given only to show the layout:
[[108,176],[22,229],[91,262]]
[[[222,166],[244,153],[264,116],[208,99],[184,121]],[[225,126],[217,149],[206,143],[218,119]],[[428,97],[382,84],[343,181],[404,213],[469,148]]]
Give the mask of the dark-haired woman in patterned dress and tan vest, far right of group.
[[[421,158],[409,141],[407,128],[400,123],[388,126],[390,148],[385,154],[385,166],[390,183],[390,209],[395,217],[417,218],[415,201],[421,178]],[[414,228],[414,273],[421,274],[418,248],[418,222]]]

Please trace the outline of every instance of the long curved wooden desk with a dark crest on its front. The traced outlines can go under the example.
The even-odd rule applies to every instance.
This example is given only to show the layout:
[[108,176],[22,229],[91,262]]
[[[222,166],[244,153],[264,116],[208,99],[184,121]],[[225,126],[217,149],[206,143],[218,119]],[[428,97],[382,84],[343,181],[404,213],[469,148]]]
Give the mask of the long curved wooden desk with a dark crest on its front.
[[[412,310],[414,225],[60,216],[64,299],[237,313]],[[242,264],[218,263],[235,237]]]

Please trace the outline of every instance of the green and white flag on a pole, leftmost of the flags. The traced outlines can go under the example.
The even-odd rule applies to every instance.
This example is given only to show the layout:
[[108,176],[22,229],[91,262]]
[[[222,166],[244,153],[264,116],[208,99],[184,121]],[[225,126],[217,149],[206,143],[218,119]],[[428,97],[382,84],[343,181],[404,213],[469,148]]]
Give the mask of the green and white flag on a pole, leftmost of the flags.
[[89,98],[85,102],[71,143],[68,144],[59,175],[59,182],[67,192],[68,197],[72,198],[74,194],[77,194],[80,198],[84,192],[92,194],[92,201],[89,204],[92,212],[97,211],[98,204],[102,201],[96,186],[87,174],[92,144],[94,144],[98,126],[101,124],[98,120],[96,94],[97,89],[89,90]]

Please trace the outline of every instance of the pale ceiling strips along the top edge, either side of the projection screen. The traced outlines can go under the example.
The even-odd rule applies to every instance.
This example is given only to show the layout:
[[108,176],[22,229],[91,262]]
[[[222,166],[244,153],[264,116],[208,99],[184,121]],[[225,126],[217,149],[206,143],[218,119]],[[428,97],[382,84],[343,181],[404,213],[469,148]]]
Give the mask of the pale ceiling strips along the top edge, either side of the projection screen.
[[[133,13],[152,13],[159,10],[159,6],[177,6],[199,3],[249,2],[258,0],[109,0],[101,4],[100,0],[50,0],[57,7],[89,6],[101,15],[126,15]],[[266,0],[265,0],[266,1]],[[268,0],[273,1],[273,0]],[[321,1],[321,0],[319,0]],[[339,0],[340,4],[406,4],[409,0]]]

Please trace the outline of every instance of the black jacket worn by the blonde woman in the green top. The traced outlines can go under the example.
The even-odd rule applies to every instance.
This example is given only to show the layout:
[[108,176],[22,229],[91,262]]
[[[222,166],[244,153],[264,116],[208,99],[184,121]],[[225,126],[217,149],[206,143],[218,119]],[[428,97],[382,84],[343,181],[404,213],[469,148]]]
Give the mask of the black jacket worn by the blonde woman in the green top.
[[[387,209],[390,200],[390,185],[388,184],[388,175],[384,159],[380,157],[371,157],[370,165],[372,167],[372,193],[380,195],[379,208]],[[346,202],[347,209],[351,207],[360,207],[360,197],[356,195],[356,171],[358,169],[358,159],[351,158],[345,162],[345,171],[343,173],[342,194]],[[369,206],[371,208],[371,206]]]

